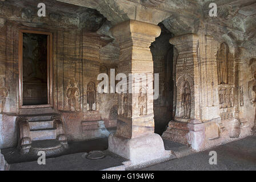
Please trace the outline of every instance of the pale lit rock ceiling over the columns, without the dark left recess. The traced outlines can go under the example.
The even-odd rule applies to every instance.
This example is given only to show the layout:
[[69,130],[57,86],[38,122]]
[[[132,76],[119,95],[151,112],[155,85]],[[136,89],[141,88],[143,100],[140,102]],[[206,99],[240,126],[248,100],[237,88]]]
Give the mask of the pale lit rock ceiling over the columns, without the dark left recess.
[[[111,24],[127,19],[158,24],[174,35],[203,30],[234,47],[256,50],[255,0],[57,0],[97,9]],[[216,3],[217,17],[209,16]],[[253,47],[253,48],[252,48]]]

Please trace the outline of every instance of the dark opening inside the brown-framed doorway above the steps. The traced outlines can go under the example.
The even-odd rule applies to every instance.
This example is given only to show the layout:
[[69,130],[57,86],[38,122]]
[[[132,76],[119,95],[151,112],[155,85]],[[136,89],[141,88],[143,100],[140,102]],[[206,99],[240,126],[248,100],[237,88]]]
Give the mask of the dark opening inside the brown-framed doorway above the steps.
[[23,105],[43,105],[47,96],[47,35],[23,33]]

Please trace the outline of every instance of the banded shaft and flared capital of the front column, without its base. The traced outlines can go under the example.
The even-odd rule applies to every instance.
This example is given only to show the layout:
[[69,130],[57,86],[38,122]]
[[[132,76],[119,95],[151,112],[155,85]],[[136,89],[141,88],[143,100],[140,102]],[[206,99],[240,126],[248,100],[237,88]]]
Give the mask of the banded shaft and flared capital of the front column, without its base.
[[[161,34],[161,28],[153,24],[129,20],[113,27],[111,32],[121,48],[118,71],[125,73],[127,77],[129,74],[134,76],[133,80],[131,77],[127,79],[131,83],[127,85],[129,93],[119,94],[118,97],[119,114],[116,135],[137,138],[153,134],[154,68],[149,47]],[[135,92],[136,89],[137,92]],[[131,93],[130,90],[133,92]]]

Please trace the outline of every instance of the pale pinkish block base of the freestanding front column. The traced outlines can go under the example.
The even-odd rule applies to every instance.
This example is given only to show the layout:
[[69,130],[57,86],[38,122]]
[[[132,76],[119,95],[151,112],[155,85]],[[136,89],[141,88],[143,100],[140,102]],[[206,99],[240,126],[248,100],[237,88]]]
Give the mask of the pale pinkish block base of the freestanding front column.
[[148,163],[173,156],[171,151],[165,150],[163,140],[158,134],[150,134],[133,139],[110,134],[108,150],[129,159],[132,164]]

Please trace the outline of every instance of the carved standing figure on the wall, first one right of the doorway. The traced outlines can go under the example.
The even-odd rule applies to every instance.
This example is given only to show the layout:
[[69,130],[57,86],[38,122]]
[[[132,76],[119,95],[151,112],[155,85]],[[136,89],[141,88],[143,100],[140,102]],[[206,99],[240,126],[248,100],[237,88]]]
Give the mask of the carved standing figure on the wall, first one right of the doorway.
[[80,105],[78,102],[79,98],[79,89],[74,79],[70,80],[70,87],[67,89],[67,100],[69,102],[69,110],[72,111],[74,106],[74,111],[80,111]]

